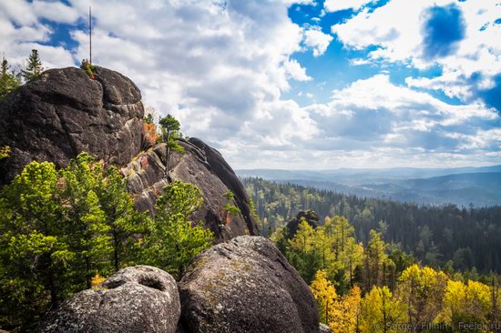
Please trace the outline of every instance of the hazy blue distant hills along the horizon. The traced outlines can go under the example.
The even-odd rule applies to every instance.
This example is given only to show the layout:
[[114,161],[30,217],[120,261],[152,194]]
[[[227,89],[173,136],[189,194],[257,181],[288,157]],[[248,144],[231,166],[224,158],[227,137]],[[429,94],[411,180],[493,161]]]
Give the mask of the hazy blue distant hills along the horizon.
[[382,197],[427,205],[501,205],[501,166],[459,168],[237,170],[239,177],[327,189],[358,197]]

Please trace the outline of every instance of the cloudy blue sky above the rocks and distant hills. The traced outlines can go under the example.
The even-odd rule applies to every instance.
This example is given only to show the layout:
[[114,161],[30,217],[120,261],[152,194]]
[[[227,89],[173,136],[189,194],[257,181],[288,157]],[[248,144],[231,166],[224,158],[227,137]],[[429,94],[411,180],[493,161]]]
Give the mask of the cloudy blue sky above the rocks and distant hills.
[[501,164],[501,0],[0,0],[0,52],[129,76],[234,168]]

